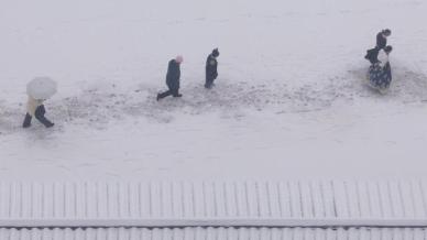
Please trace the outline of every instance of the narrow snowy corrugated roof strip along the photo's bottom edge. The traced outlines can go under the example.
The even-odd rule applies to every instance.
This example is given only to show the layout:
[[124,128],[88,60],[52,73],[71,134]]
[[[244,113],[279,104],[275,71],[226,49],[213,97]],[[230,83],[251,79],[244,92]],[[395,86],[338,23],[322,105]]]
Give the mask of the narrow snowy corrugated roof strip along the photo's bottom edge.
[[427,229],[86,228],[4,229],[0,240],[426,240]]

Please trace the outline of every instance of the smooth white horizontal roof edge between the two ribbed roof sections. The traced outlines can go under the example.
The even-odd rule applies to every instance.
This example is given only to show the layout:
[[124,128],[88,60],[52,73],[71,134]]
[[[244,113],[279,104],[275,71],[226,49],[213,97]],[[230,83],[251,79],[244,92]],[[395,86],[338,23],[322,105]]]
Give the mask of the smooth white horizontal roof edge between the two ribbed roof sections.
[[427,219],[0,219],[0,228],[427,228]]

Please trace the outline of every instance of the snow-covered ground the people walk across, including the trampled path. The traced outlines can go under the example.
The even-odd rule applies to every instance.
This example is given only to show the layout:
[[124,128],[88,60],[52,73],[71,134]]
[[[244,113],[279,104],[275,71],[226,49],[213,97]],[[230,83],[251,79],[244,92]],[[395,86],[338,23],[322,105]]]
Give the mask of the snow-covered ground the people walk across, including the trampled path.
[[[0,178],[424,177],[423,0],[2,0]],[[365,50],[393,31],[385,96]],[[219,47],[217,87],[202,88]],[[155,101],[183,54],[183,99]],[[21,129],[50,76],[56,123]]]

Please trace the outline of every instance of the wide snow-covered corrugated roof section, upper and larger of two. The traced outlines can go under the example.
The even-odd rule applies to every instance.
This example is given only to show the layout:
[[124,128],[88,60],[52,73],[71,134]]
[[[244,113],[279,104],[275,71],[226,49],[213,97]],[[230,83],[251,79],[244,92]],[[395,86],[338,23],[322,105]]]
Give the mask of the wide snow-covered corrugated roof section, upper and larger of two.
[[0,227],[427,227],[423,181],[0,183]]

